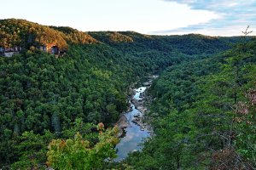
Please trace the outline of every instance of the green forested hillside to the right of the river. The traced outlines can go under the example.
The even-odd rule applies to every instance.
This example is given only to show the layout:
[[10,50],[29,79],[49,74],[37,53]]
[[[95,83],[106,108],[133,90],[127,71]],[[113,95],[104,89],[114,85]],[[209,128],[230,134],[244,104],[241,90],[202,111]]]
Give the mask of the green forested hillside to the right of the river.
[[135,169],[253,169],[256,41],[172,65],[150,89],[155,136]]

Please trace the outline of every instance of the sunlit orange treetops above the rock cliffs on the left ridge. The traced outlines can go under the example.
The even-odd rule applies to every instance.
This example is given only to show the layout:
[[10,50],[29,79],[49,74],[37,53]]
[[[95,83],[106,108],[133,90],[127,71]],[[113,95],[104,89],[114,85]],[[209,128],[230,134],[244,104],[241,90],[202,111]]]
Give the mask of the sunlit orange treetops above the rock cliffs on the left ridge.
[[30,48],[31,46],[57,46],[67,50],[64,34],[49,26],[41,26],[27,20],[0,20],[0,47],[14,48],[16,46]]

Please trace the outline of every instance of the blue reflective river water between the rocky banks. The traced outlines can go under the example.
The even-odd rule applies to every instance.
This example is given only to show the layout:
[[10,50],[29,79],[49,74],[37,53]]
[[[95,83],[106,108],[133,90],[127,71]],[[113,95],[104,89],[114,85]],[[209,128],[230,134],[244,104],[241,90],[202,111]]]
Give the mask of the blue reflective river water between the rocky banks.
[[[137,88],[133,99],[143,99],[140,97],[140,94],[145,92],[146,89],[146,87]],[[128,153],[132,151],[142,150],[143,146],[140,144],[143,143],[143,139],[146,139],[150,135],[146,128],[142,128],[136,123],[132,122],[132,120],[135,119],[135,116],[142,116],[142,113],[135,108],[135,105],[131,104],[131,107],[132,111],[125,113],[130,126],[124,129],[125,136],[120,140],[119,144],[116,145],[118,157],[115,158],[115,161],[125,159],[125,157],[128,156]]]

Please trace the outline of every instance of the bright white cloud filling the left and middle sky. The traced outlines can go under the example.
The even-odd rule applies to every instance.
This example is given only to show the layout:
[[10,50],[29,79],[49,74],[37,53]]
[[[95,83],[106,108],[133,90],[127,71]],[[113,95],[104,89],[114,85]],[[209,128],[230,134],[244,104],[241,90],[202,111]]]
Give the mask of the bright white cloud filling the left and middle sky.
[[[208,10],[195,10],[187,4],[160,0],[9,1],[4,6],[12,6],[14,10],[2,8],[1,17],[23,18],[44,25],[73,26],[82,31],[148,33],[206,23],[219,17]],[[186,2],[193,3],[194,0]],[[54,9],[47,10],[48,5]]]

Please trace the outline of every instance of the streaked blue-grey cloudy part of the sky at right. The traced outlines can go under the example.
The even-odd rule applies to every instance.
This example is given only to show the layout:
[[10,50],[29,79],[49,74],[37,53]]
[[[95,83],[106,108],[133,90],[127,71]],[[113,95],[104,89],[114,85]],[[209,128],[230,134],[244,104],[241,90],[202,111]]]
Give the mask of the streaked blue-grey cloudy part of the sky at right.
[[[164,0],[170,3],[176,2],[187,4],[190,8],[204,9],[218,14],[215,20],[209,20],[206,23],[180,27],[178,29],[169,29],[165,31],[154,31],[158,34],[186,34],[201,33],[207,35],[234,36],[241,35],[241,30],[246,26],[256,29],[256,2],[243,0]],[[253,34],[256,35],[255,31]]]

